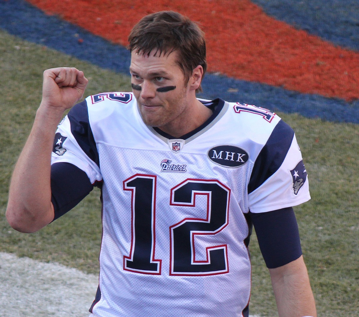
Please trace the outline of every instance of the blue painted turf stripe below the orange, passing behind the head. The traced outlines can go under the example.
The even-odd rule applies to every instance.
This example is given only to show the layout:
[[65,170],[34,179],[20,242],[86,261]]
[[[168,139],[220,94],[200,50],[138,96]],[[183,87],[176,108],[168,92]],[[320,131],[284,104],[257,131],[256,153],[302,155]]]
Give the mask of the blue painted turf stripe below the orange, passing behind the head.
[[[0,28],[27,41],[128,74],[130,54],[124,47],[55,16],[48,16],[23,0],[0,0]],[[83,42],[80,43],[79,38]],[[214,74],[206,74],[202,87],[204,92],[199,94],[202,98],[220,97],[227,101],[255,104],[272,111],[297,112],[310,118],[359,123],[359,100],[349,103],[342,99],[302,94]]]

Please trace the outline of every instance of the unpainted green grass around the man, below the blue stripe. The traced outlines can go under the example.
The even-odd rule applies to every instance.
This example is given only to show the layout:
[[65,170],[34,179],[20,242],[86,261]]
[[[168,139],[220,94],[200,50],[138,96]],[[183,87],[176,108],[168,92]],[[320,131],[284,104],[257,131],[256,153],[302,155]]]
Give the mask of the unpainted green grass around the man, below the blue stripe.
[[[0,251],[59,262],[98,274],[99,192],[37,233],[22,234],[5,220],[11,172],[41,100],[43,70],[75,66],[90,82],[85,95],[129,91],[129,78],[0,32]],[[318,316],[359,316],[359,126],[280,116],[296,131],[312,200],[295,208]],[[270,279],[255,234],[251,313],[277,316]],[[95,291],[95,290],[94,290]]]

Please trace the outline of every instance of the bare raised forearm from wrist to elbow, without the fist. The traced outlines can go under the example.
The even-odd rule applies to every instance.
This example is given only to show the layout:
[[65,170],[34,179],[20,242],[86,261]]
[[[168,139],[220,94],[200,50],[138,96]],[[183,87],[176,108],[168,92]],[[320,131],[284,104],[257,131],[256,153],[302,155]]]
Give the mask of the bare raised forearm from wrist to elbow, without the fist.
[[53,219],[50,163],[53,138],[61,111],[41,105],[15,166],[9,190],[6,218],[21,232],[34,232]]

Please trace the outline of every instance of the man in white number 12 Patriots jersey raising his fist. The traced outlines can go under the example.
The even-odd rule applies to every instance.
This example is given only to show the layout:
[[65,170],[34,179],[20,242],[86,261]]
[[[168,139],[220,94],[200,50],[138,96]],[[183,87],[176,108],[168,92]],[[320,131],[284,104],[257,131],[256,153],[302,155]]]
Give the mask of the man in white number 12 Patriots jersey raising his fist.
[[74,106],[83,72],[44,72],[11,180],[10,225],[35,232],[99,186],[92,316],[226,317],[248,316],[253,223],[279,316],[316,316],[292,209],[310,199],[293,130],[263,108],[196,98],[205,41],[182,15],[144,17],[129,42],[132,93]]

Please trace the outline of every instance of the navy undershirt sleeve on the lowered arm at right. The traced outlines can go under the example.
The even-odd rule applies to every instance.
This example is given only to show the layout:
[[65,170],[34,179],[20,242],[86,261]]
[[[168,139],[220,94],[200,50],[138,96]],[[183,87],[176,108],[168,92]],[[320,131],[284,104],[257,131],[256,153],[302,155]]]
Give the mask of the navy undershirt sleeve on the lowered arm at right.
[[288,264],[302,255],[297,219],[292,207],[250,213],[258,244],[269,269]]

